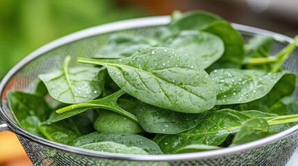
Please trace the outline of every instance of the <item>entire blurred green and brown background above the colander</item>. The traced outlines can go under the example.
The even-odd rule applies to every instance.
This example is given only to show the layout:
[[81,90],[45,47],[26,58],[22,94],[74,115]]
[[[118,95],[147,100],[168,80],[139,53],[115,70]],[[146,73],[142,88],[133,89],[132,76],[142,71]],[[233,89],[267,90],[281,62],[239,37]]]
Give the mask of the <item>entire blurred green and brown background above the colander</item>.
[[0,0],[0,80],[33,50],[122,19],[207,10],[239,24],[298,34],[298,0]]

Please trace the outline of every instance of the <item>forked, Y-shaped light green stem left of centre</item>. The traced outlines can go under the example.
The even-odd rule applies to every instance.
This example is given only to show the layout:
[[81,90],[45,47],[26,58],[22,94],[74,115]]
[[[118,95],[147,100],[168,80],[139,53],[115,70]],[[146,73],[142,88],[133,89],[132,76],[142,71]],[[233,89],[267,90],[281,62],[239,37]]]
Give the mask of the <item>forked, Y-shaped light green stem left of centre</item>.
[[65,113],[67,111],[73,111],[75,109],[106,109],[109,111],[114,111],[115,113],[119,113],[126,118],[133,120],[134,122],[138,123],[138,118],[134,116],[132,113],[125,111],[117,104],[118,98],[123,95],[125,92],[119,90],[111,95],[106,96],[105,98],[101,98],[99,100],[92,100],[86,103],[80,104],[72,104],[70,106],[64,107],[62,109],[58,109],[56,113]]

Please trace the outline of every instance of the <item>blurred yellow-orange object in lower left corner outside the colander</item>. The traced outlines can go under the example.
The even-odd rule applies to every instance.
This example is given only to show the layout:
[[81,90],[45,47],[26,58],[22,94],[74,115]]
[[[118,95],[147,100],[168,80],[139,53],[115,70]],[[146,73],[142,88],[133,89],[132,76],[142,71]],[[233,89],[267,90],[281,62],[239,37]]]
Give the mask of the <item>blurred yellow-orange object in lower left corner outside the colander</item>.
[[0,166],[33,165],[21,143],[10,131],[0,132]]

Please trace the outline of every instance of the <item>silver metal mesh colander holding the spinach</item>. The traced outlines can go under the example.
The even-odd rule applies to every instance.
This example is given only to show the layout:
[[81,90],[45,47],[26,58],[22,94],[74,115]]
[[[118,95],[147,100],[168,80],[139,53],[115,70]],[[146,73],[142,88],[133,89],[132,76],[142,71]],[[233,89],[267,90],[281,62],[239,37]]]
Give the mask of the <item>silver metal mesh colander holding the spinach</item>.
[[[39,138],[17,126],[8,108],[6,92],[10,89],[33,92],[37,77],[63,65],[67,55],[92,57],[112,33],[132,33],[150,37],[160,26],[165,26],[169,17],[147,17],[119,21],[82,30],[58,39],[35,50],[13,67],[0,84],[1,107],[0,131],[13,131],[17,134],[28,157],[34,165],[286,165],[298,146],[298,125],[273,136],[235,147],[189,154],[131,155],[109,154],[88,149],[62,145]],[[250,37],[263,34],[274,37],[272,54],[279,52],[292,39],[266,30],[233,24],[247,41]],[[298,73],[298,49],[296,49],[283,68]],[[298,81],[297,81],[298,82]],[[286,86],[286,85],[285,85]],[[297,85],[296,85],[297,86]],[[298,91],[296,89],[297,98]]]

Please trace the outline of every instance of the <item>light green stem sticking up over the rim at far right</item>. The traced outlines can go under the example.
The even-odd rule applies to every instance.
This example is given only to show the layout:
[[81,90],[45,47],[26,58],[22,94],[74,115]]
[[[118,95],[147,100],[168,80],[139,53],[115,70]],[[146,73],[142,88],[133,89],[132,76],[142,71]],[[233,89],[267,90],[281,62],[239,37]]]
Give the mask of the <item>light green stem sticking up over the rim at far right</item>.
[[294,41],[291,44],[283,48],[283,50],[281,50],[279,53],[275,55],[277,61],[274,64],[274,66],[272,66],[272,70],[271,70],[272,73],[276,73],[276,71],[279,71],[281,64],[285,61],[285,59],[289,57],[290,53],[292,53],[292,51],[296,48],[297,42],[298,42],[298,36],[294,38]]

